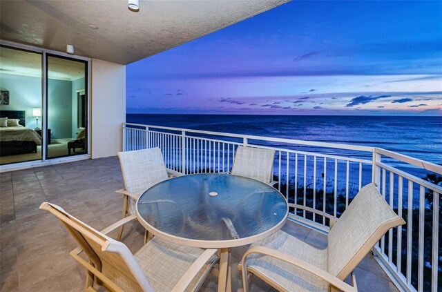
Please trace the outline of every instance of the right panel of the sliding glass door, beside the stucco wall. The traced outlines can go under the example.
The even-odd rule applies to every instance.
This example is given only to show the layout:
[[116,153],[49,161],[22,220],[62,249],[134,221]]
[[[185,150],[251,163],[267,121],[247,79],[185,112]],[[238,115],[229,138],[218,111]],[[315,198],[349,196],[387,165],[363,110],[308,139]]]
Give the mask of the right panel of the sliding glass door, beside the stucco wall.
[[88,153],[88,63],[46,55],[47,158]]

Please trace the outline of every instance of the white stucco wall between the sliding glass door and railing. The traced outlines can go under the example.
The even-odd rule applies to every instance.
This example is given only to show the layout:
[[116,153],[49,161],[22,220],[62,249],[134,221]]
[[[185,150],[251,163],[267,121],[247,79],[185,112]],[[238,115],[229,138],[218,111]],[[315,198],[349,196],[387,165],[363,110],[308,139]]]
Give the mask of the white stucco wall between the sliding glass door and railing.
[[126,66],[91,61],[92,158],[117,155],[122,150],[122,123],[126,121]]

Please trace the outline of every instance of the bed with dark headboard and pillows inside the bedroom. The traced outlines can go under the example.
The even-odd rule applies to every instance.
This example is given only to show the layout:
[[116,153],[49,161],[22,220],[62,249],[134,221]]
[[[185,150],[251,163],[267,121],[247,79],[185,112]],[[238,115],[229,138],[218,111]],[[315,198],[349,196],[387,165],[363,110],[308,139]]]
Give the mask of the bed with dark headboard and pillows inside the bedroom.
[[0,110],[0,117],[19,119],[20,126],[0,127],[0,156],[37,153],[41,137],[35,130],[25,128],[25,110]]

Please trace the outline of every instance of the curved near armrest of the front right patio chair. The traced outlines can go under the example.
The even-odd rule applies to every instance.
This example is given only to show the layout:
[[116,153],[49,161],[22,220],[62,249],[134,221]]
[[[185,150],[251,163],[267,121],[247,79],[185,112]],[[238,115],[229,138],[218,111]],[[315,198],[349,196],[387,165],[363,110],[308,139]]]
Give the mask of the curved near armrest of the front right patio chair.
[[[322,269],[319,269],[317,266],[314,266],[313,264],[310,264],[308,262],[305,262],[305,260],[301,260],[297,257],[293,257],[291,255],[287,255],[287,253],[282,253],[280,251],[276,251],[275,249],[269,249],[265,246],[254,246],[251,249],[247,250],[246,253],[242,256],[241,265],[242,265],[242,281],[244,282],[244,285],[248,284],[247,281],[247,266],[245,264],[247,255],[251,253],[260,253],[262,255],[268,255],[270,257],[275,257],[278,260],[282,260],[284,262],[288,262],[289,264],[293,264],[294,266],[298,266],[298,268],[303,269],[309,273],[312,273],[313,275],[316,275],[317,277],[329,282],[336,288],[344,291],[344,292],[357,292],[358,290],[350,286],[349,284],[345,283],[343,280],[340,280],[339,278],[335,277],[332,274],[327,273],[327,271],[324,271]],[[244,289],[245,291],[245,289]]]

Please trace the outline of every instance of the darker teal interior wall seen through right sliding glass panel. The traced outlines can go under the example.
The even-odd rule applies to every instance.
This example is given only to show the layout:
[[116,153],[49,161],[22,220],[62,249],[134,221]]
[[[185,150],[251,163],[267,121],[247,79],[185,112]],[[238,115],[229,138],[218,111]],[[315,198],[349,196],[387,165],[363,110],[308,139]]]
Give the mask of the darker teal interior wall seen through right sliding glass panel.
[[48,80],[48,129],[52,139],[72,137],[72,81]]

